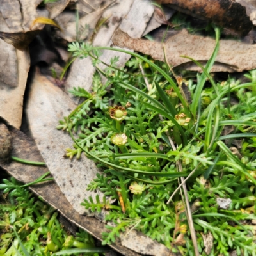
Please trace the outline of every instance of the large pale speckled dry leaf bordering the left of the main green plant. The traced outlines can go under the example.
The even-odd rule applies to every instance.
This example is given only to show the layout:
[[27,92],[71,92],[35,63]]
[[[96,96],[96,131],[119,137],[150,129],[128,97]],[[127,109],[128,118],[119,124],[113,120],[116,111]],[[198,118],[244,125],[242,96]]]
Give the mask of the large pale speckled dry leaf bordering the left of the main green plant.
[[[36,72],[26,109],[31,132],[61,191],[74,209],[84,214],[89,211],[81,206],[81,202],[88,196],[95,198],[96,193],[86,191],[86,188],[99,171],[95,163],[84,156],[79,160],[65,159],[65,150],[72,148],[74,142],[67,133],[56,129],[58,120],[63,120],[75,108],[66,93]],[[103,194],[99,195],[102,198]]]

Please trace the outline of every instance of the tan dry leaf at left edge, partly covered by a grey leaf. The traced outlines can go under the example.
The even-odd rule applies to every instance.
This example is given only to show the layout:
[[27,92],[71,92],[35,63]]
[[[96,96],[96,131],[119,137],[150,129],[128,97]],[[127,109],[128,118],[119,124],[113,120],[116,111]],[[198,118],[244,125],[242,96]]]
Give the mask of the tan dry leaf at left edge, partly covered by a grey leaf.
[[[4,42],[4,44],[6,43]],[[10,47],[13,46],[10,45]],[[24,51],[16,49],[14,52],[17,56],[17,61],[14,61],[11,64],[14,67],[17,67],[17,86],[11,88],[0,81],[0,116],[10,125],[19,129],[22,119],[23,95],[27,83],[30,60],[28,49]],[[1,65],[1,67],[3,66]],[[12,70],[11,67],[10,70]],[[7,71],[8,74],[10,74],[10,76],[15,76],[15,73],[12,74],[10,70]]]

